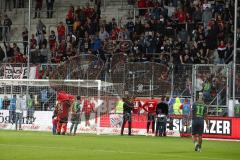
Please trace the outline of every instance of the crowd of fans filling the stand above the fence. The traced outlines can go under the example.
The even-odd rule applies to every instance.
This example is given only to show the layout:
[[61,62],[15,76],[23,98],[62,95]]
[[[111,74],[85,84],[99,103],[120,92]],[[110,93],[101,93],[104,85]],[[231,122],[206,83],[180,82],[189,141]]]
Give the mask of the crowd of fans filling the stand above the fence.
[[[129,4],[135,2],[130,0]],[[43,0],[36,0],[34,18],[40,17],[42,3]],[[47,17],[52,18],[54,0],[46,4]],[[56,30],[48,35],[46,25],[39,19],[37,32],[30,40],[32,63],[59,63],[79,53],[100,55],[107,61],[107,55],[115,52],[127,53],[134,62],[224,64],[232,61],[232,1],[139,0],[136,4],[139,15],[135,19],[117,21],[113,17],[108,23],[101,19],[101,0],[95,0],[94,7],[89,3],[84,7],[70,6],[65,22],[59,22]],[[10,40],[11,24],[11,19],[5,15],[1,27],[4,42]],[[27,41],[27,33],[24,28],[23,41]],[[16,48],[16,44],[9,46],[10,50]],[[22,56],[27,53],[27,43],[23,46]],[[25,62],[11,59],[18,54],[8,54],[8,50],[6,48],[5,53],[10,62]]]

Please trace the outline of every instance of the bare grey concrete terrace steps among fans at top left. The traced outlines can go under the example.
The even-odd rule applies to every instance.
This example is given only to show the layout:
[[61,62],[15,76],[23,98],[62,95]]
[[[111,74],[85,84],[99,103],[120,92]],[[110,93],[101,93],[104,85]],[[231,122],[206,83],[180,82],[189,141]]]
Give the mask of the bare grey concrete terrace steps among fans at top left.
[[[47,27],[47,34],[49,35],[50,30],[56,31],[56,26],[60,21],[65,22],[65,17],[67,14],[67,10],[70,5],[74,6],[85,6],[89,0],[58,0],[55,3],[55,7],[61,6],[58,9],[58,13],[53,14],[52,19],[47,19],[46,13],[46,4],[45,1],[43,3],[43,13],[41,13],[41,20]],[[63,6],[64,4],[64,6]],[[93,3],[90,3],[93,6]],[[28,26],[28,4],[25,4],[24,9],[14,9],[12,12],[7,11],[6,14],[12,19],[13,25],[11,27],[11,41],[22,41],[22,31],[24,26]],[[34,6],[34,4],[32,5]],[[112,18],[115,18],[117,21],[120,20],[121,17],[129,17],[129,15],[133,15],[129,13],[129,8],[132,6],[127,5],[127,0],[105,0],[105,7],[104,4],[101,9],[101,18],[105,19],[107,22],[111,21]],[[123,9],[125,8],[125,9]],[[126,9],[128,8],[128,9]],[[38,23],[38,18],[33,19],[34,17],[34,7],[32,7],[31,12],[31,34],[36,34],[36,25]],[[23,46],[22,43],[19,42],[18,46],[22,50]]]

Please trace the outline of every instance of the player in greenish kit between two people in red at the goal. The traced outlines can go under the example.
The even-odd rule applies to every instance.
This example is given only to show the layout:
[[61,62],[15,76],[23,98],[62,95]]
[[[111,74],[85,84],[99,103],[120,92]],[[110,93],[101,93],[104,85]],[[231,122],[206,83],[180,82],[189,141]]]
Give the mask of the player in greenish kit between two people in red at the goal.
[[81,97],[77,96],[77,99],[75,99],[73,102],[71,111],[72,125],[70,127],[70,135],[72,135],[73,128],[74,128],[73,135],[76,135],[77,127],[80,121],[81,121]]

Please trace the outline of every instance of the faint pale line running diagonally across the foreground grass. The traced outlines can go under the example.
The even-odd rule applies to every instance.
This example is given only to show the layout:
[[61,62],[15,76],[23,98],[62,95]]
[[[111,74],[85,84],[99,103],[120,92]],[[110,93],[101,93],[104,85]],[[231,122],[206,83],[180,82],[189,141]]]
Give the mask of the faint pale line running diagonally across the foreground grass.
[[[62,149],[62,150],[69,150],[69,151],[77,151],[79,152],[79,150],[84,150],[84,151],[95,151],[95,152],[105,152],[105,153],[122,153],[122,154],[142,154],[142,155],[154,155],[154,156],[166,156],[166,157],[175,157],[175,158],[190,158],[192,159],[192,156],[181,156],[181,155],[171,155],[169,153],[148,153],[148,152],[129,152],[129,151],[121,151],[121,150],[104,150],[104,149],[77,149],[77,148],[63,148],[63,147],[53,147],[53,146],[34,146],[34,145],[21,145],[21,144],[1,144],[0,146],[9,146],[9,147],[21,147],[21,148],[30,148],[30,149]],[[201,153],[199,153],[201,154]],[[226,159],[226,158],[210,158],[210,157],[194,157],[194,159],[207,159],[207,160],[234,160],[234,159]],[[166,158],[165,158],[166,159]]]

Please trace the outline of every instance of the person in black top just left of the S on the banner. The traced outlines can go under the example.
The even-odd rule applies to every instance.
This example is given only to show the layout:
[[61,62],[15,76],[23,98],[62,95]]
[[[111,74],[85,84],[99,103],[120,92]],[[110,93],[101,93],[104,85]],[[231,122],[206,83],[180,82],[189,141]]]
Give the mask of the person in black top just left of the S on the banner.
[[168,104],[162,97],[156,108],[157,128],[155,136],[166,136],[166,125],[168,116]]

